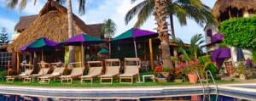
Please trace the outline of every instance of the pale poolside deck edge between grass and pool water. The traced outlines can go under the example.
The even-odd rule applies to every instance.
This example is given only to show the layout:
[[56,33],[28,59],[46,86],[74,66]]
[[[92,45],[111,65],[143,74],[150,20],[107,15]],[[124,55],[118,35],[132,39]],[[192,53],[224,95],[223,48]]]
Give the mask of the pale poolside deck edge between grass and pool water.
[[[218,94],[256,100],[256,81],[247,83],[219,84]],[[160,98],[201,95],[200,85],[157,87],[20,87],[0,85],[4,94],[18,94],[46,98]],[[205,87],[205,93],[215,94],[215,87]],[[246,96],[245,96],[246,95]]]

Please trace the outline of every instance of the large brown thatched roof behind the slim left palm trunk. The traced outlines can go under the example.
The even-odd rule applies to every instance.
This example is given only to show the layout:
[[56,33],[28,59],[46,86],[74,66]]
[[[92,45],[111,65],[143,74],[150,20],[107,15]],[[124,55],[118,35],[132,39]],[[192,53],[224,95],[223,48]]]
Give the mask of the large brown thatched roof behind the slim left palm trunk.
[[[35,18],[34,21],[31,21],[31,19],[27,21],[27,19],[20,18],[20,22],[15,26],[15,30],[22,32],[20,36],[9,45],[9,52],[19,52],[21,47],[35,41],[41,36],[55,42],[61,42],[67,39],[67,8],[55,2],[48,2],[38,15],[33,15],[32,17]],[[29,24],[29,21],[31,24]],[[22,24],[22,22],[26,24]],[[101,27],[102,24],[85,25],[83,20],[80,20],[79,17],[73,14],[74,35],[84,32],[90,36],[101,37]]]

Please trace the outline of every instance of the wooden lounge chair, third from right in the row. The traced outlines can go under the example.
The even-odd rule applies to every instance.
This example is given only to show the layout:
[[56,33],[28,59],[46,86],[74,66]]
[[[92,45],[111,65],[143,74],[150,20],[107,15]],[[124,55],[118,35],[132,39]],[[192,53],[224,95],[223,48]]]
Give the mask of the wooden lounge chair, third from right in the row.
[[87,75],[81,76],[81,83],[83,83],[85,80],[88,80],[90,83],[92,83],[94,77],[102,75],[102,61],[88,61],[87,64],[89,71]]

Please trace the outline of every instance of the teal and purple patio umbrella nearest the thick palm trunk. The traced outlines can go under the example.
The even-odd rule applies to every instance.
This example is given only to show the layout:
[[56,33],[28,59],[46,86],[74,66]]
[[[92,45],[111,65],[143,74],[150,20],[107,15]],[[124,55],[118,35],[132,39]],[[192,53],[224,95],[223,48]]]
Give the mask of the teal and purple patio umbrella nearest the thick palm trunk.
[[137,58],[137,40],[147,40],[149,38],[157,37],[158,33],[153,31],[145,31],[140,30],[137,28],[131,28],[128,31],[125,31],[124,33],[120,34],[119,36],[116,36],[113,38],[111,42],[127,42],[127,41],[133,41],[134,44],[134,50],[135,50],[135,56]]

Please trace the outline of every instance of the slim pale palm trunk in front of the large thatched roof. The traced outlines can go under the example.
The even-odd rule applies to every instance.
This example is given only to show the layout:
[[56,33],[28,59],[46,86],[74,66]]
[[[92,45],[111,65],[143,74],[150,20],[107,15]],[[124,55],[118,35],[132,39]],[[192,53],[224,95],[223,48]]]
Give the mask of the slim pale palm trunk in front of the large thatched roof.
[[[73,13],[72,13],[72,3],[71,0],[67,0],[67,18],[68,18],[68,38],[73,37]],[[74,47],[69,46],[69,58],[68,63],[75,61]]]

